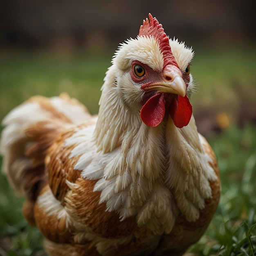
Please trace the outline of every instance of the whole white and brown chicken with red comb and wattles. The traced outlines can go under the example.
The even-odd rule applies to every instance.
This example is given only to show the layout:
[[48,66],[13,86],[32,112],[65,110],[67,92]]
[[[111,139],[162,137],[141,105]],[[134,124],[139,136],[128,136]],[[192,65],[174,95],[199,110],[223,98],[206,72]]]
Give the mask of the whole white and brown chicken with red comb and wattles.
[[149,14],[112,58],[98,116],[61,94],[5,117],[3,169],[49,256],[178,256],[202,236],[220,178],[192,115],[192,58]]

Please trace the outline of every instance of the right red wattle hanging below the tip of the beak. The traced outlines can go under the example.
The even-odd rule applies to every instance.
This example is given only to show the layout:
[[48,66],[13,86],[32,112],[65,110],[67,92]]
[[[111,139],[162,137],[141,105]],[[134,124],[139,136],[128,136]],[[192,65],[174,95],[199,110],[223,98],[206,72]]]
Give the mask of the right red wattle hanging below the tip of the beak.
[[192,115],[192,105],[187,95],[185,97],[178,96],[173,98],[169,113],[177,128],[187,126]]

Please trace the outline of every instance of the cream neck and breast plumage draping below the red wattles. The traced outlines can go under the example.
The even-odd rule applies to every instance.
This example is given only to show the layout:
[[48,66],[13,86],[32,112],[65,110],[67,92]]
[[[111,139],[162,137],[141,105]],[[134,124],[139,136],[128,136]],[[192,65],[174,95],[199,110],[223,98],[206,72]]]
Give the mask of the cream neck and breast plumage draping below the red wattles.
[[[211,197],[208,180],[216,176],[193,116],[184,128],[177,128],[170,116],[159,126],[148,127],[117,93],[115,83],[104,83],[94,131],[98,152],[111,155],[104,177],[95,187],[102,191],[101,202],[107,202],[108,211],[119,211],[120,219],[138,214],[138,224],[145,225],[152,211],[155,216],[160,214],[149,202],[159,204],[164,194],[166,202],[161,207],[168,208],[165,214],[170,214],[165,231],[172,228],[178,212],[188,221],[197,220],[204,200]],[[125,202],[118,201],[120,195]]]

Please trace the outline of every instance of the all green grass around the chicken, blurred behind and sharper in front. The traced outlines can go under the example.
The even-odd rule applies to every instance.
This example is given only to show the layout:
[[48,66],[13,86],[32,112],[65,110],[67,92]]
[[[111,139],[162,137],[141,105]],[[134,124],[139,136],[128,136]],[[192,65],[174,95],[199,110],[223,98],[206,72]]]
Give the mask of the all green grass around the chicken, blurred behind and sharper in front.
[[[198,92],[192,98],[195,111],[207,106],[236,116],[243,101],[255,102],[254,48],[198,51],[195,47],[195,51],[191,67],[198,82]],[[34,94],[53,96],[63,91],[97,113],[111,55],[2,55],[0,119]],[[218,158],[222,195],[209,228],[189,252],[203,256],[252,256],[256,252],[256,127],[247,124],[240,129],[233,122],[209,142]],[[6,177],[0,174],[0,255],[45,256],[42,235],[22,217],[23,200],[13,194]]]

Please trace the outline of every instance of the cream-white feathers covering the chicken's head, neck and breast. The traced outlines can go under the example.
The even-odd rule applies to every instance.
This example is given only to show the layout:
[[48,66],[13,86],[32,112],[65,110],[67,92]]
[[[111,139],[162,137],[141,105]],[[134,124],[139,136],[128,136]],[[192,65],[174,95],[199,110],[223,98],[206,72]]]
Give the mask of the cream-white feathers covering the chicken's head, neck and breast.
[[[183,71],[193,51],[175,39],[170,45]],[[155,70],[163,67],[154,38],[122,44],[104,79],[94,132],[93,126],[80,130],[66,144],[77,143],[70,157],[79,156],[75,167],[82,170],[83,178],[98,179],[94,191],[101,191],[100,203],[106,202],[108,211],[117,211],[120,220],[137,215],[140,227],[168,233],[178,212],[189,221],[198,219],[204,200],[211,197],[207,179],[215,180],[216,175],[202,150],[193,117],[182,129],[171,118],[155,128],[141,121],[142,93],[128,75],[135,59]]]

